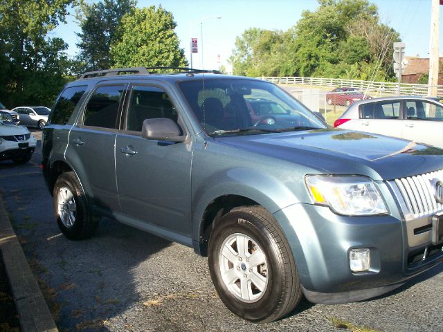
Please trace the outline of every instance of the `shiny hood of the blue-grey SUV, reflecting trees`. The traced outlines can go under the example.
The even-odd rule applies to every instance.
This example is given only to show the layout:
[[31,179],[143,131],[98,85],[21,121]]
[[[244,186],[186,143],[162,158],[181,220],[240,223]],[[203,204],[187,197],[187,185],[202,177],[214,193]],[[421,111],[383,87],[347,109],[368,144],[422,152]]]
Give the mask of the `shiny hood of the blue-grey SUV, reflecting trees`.
[[305,165],[322,174],[358,174],[390,180],[443,169],[443,149],[359,131],[320,129],[215,140]]

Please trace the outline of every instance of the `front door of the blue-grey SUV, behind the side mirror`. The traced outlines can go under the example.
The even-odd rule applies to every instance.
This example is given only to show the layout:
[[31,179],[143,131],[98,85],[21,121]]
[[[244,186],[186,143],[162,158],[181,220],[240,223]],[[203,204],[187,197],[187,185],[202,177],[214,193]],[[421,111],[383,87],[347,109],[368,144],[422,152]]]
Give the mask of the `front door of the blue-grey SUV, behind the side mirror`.
[[116,178],[122,212],[190,237],[192,142],[143,138],[143,120],[170,118],[186,135],[177,103],[161,86],[134,84],[116,138]]

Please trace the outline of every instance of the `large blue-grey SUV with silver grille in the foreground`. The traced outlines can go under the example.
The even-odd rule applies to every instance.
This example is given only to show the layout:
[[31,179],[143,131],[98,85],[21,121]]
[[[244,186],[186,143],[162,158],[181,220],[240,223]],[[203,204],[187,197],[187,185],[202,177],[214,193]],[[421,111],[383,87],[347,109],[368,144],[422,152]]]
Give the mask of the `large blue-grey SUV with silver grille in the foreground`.
[[[149,71],[85,73],[55,102],[42,169],[69,239],[103,215],[190,246],[254,322],[302,294],[375,297],[442,263],[443,149],[327,127],[262,80]],[[253,119],[259,98],[287,112]]]

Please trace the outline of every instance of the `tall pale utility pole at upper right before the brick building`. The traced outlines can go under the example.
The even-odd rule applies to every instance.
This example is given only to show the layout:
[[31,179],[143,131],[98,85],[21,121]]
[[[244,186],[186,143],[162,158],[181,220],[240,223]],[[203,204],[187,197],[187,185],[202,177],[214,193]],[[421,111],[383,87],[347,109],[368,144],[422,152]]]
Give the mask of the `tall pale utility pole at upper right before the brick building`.
[[440,0],[431,0],[431,42],[429,47],[429,81],[428,96],[437,97],[438,84],[438,39],[439,39],[439,22],[440,22]]

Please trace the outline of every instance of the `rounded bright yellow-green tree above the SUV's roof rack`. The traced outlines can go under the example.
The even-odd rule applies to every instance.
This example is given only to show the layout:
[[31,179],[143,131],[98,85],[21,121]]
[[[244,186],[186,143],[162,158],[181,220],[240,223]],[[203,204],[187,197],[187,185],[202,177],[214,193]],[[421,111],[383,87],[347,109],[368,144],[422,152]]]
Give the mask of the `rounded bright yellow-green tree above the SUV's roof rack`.
[[176,26],[172,13],[162,6],[136,9],[125,15],[117,28],[122,38],[111,44],[114,66],[187,66],[174,32]]

